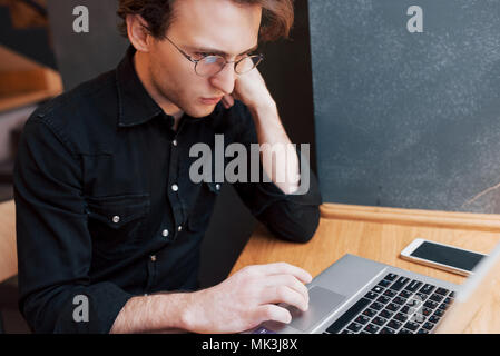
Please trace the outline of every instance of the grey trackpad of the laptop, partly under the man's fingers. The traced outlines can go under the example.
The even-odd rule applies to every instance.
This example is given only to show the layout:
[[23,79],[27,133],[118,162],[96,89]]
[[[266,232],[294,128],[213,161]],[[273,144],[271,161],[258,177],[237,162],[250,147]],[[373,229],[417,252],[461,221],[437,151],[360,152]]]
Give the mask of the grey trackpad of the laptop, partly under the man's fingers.
[[345,299],[345,296],[322,287],[313,287],[308,294],[310,307],[307,312],[303,313],[295,307],[287,307],[292,313],[292,323],[288,326],[304,333],[326,317],[330,312]]

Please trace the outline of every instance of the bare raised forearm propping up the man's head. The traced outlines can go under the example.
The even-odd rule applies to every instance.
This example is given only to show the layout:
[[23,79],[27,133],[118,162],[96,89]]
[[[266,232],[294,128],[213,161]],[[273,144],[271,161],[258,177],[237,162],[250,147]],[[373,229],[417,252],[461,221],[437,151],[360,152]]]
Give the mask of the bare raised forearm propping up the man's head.
[[283,192],[295,192],[300,182],[298,157],[280,120],[275,102],[271,99],[249,110],[261,145],[264,171]]

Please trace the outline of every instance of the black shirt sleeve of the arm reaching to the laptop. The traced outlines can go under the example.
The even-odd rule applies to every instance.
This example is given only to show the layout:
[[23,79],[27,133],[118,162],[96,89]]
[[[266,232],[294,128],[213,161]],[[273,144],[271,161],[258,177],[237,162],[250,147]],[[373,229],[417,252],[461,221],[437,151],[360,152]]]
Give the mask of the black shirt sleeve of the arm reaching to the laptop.
[[91,237],[71,148],[48,117],[24,126],[14,168],[19,308],[35,333],[109,333],[133,296],[89,278]]

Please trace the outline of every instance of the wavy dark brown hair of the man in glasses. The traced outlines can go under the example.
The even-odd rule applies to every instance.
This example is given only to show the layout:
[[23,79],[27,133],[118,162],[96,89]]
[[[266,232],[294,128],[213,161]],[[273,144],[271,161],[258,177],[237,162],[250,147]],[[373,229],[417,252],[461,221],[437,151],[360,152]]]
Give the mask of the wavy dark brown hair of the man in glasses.
[[[165,34],[175,17],[177,0],[118,0],[117,14],[121,18],[118,29],[127,37],[127,14],[140,14],[147,22],[147,31],[156,39]],[[209,1],[209,0],[206,0]],[[288,38],[294,22],[293,0],[232,0],[239,4],[258,4],[263,9],[261,40],[273,41]]]

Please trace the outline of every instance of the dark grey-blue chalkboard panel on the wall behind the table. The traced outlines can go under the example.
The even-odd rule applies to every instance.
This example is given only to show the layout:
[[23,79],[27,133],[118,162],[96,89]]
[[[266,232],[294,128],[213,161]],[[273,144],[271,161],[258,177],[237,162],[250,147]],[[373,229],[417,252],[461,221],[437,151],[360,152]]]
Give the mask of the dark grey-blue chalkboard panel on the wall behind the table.
[[500,1],[308,3],[324,200],[500,212]]

